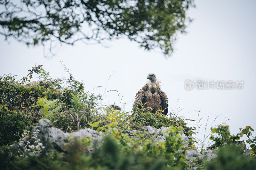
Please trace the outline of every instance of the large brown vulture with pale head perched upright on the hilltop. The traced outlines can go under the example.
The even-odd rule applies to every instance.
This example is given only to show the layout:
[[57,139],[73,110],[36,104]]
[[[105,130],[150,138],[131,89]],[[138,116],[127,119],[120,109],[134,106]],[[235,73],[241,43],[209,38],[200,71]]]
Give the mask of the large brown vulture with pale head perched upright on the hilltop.
[[140,89],[135,96],[135,103],[142,104],[142,107],[151,107],[153,113],[157,110],[163,110],[163,114],[168,112],[168,98],[167,95],[160,89],[160,81],[156,81],[156,75],[148,74],[148,81],[142,89]]

